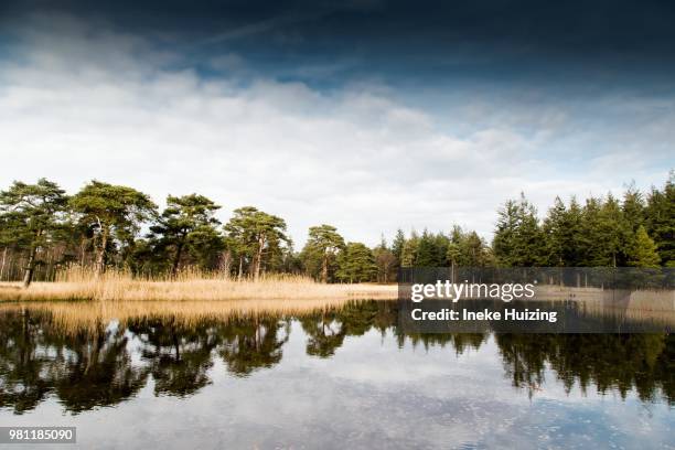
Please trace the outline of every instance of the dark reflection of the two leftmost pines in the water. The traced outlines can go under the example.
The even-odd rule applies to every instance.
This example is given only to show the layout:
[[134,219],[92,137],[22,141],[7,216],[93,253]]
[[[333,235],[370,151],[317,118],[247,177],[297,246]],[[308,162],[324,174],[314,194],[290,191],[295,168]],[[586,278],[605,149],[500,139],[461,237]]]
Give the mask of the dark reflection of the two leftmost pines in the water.
[[54,392],[66,410],[114,405],[135,395],[146,372],[130,364],[121,330],[64,333],[49,314],[6,312],[0,319],[0,406],[17,414]]

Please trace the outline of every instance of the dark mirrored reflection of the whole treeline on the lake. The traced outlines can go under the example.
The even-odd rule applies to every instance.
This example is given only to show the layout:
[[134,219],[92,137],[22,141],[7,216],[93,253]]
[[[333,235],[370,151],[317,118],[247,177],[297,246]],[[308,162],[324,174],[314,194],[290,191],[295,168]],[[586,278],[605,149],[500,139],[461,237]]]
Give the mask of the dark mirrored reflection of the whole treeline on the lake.
[[[303,333],[306,355],[319,358],[334,357],[347,336],[371,331],[393,336],[399,349],[456,354],[478,351],[491,339],[488,333],[404,333],[396,308],[396,302],[364,301],[294,314],[127,317],[87,326],[64,326],[49,308],[9,308],[0,312],[0,407],[23,414],[54,396],[78,414],[120,404],[150,383],[156,396],[190,397],[213,383],[216,362],[234,377],[279,364],[291,329]],[[529,396],[553,369],[556,379],[548,382],[567,392],[578,385],[625,397],[634,389],[644,403],[675,403],[672,335],[496,334],[494,342],[505,376]]]

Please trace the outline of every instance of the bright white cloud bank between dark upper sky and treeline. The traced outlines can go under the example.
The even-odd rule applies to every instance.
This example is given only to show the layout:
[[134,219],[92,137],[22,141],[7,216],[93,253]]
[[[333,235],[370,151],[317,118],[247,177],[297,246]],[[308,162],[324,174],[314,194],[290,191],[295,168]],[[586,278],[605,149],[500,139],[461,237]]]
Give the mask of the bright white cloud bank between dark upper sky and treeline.
[[[326,94],[258,76],[242,87],[172,68],[181,55],[72,18],[33,18],[19,38],[20,57],[0,61],[3,186],[46,176],[74,192],[99,179],[158,203],[200,192],[224,206],[223,219],[248,204],[285,217],[299,243],[307,227],[331,223],[375,244],[399,226],[459,223],[489,236],[499,204],[521,190],[548,205],[635,178],[630,168],[560,172],[544,126],[525,135],[507,120],[453,136],[383,86]],[[236,72],[246,61],[228,53],[211,64]]]

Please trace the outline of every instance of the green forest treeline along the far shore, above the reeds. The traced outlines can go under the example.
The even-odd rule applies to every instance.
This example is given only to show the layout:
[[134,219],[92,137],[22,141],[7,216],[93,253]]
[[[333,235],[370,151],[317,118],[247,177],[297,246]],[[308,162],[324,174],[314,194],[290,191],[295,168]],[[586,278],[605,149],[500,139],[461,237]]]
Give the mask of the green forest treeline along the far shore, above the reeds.
[[296,251],[283,218],[254,206],[221,208],[200,194],[150,196],[100,181],[68,195],[45,179],[0,192],[0,279],[52,280],[68,265],[95,274],[125,269],[171,277],[186,269],[258,279],[302,274],[324,282],[390,282],[399,267],[660,267],[675,266],[675,173],[662,188],[621,197],[567,203],[556,197],[542,218],[524,195],[499,211],[492,243],[473,231],[403,231],[374,248],[345,242],[331,225],[309,228]]

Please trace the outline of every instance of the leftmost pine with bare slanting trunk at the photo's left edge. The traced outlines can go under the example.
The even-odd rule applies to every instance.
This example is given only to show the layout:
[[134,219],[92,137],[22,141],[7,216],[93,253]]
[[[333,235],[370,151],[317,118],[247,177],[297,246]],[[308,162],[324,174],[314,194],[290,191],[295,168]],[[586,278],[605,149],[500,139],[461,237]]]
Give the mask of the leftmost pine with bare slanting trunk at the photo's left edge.
[[3,226],[7,226],[3,237],[9,244],[11,236],[15,244],[28,250],[23,274],[25,288],[33,280],[38,251],[49,245],[60,227],[66,203],[65,191],[45,179],[35,184],[15,181],[9,190],[0,192],[0,212]]

